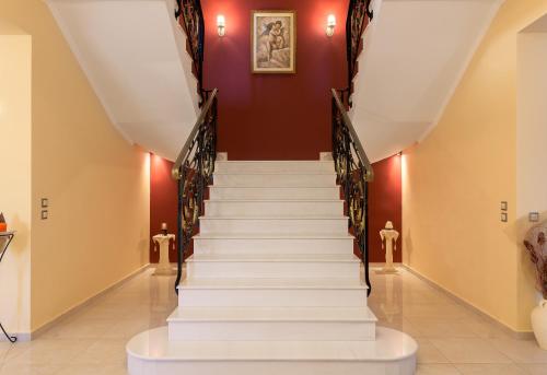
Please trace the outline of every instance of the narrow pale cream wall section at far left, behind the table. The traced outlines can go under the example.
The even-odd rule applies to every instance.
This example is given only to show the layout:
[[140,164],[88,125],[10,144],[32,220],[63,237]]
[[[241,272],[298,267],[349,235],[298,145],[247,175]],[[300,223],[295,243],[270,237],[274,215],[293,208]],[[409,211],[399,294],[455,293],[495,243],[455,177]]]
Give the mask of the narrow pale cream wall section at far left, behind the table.
[[[0,25],[0,212],[18,230],[0,263],[0,321],[31,328],[31,37]],[[0,248],[4,242],[0,239]],[[1,335],[1,333],[0,333]],[[1,338],[0,338],[1,340]]]

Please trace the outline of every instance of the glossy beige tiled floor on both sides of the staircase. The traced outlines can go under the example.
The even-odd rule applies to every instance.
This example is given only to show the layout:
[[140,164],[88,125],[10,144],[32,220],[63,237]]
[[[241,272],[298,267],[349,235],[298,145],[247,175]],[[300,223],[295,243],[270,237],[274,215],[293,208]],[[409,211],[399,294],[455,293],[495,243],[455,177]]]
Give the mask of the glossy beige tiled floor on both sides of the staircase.
[[[419,375],[547,374],[547,352],[517,341],[411,273],[371,272],[370,305],[380,325],[419,344]],[[133,278],[33,342],[0,342],[0,375],[126,374],[125,344],[165,324],[176,305],[173,278]]]

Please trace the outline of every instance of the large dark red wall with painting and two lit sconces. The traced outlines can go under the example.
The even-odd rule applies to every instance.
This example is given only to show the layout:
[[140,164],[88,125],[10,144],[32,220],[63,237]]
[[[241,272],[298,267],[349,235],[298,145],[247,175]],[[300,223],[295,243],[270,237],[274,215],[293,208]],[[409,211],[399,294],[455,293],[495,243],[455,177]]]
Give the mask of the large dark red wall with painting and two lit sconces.
[[[218,150],[230,160],[316,160],[330,151],[330,87],[347,86],[348,0],[202,0],[205,87],[219,89]],[[296,74],[251,72],[251,11],[296,11]],[[328,14],[335,35],[325,35]],[[217,34],[217,15],[226,34]]]

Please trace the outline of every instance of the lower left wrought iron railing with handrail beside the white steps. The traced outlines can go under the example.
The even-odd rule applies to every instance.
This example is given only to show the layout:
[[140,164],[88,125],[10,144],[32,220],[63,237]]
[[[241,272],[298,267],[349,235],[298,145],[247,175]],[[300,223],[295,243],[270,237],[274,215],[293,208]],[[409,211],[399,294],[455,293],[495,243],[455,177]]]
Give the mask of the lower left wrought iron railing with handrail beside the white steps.
[[198,228],[207,186],[212,183],[217,160],[218,90],[205,91],[205,105],[172,169],[178,183],[178,248],[175,291],[183,277],[183,263]]

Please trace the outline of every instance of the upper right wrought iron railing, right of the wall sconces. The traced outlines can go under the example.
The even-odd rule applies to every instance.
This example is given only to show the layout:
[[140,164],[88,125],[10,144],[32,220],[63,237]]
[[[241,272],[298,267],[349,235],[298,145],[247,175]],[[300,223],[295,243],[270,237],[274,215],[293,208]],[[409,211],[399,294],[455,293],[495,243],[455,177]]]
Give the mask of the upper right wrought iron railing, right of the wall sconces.
[[353,78],[357,74],[357,59],[363,49],[363,33],[374,16],[372,0],[350,0],[346,20],[346,48],[348,58],[348,87],[353,92]]

